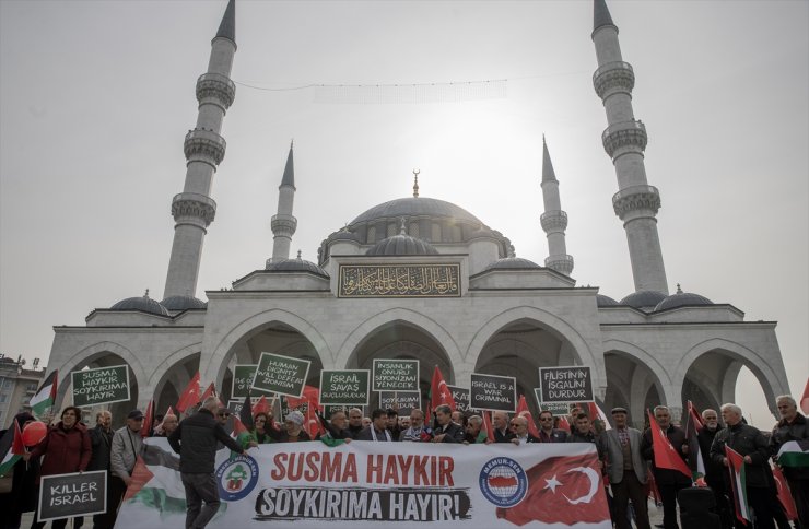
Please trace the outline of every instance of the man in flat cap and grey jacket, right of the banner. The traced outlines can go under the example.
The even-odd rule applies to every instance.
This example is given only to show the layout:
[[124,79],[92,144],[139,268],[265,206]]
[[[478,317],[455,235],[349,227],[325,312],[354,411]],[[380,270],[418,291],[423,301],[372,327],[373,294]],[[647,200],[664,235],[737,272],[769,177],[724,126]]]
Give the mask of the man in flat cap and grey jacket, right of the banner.
[[607,475],[612,486],[615,505],[615,528],[630,529],[626,509],[630,499],[635,508],[637,529],[649,529],[649,515],[644,485],[646,462],[641,457],[643,434],[626,422],[626,409],[613,408],[614,428],[598,437],[598,454],[606,459]]

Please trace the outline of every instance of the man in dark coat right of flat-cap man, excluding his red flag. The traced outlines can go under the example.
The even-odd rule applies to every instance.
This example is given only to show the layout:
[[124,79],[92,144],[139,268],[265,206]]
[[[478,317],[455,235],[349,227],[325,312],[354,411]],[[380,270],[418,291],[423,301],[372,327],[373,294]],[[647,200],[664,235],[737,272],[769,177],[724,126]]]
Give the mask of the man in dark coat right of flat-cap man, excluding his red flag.
[[[671,424],[671,414],[665,405],[655,408],[655,421],[660,426],[663,433],[671,443],[682,460],[688,466],[685,457],[689,454],[688,438],[685,431]],[[663,525],[665,529],[678,529],[677,524],[677,495],[683,489],[691,486],[691,478],[679,470],[661,469],[655,465],[655,449],[652,443],[652,428],[643,433],[643,444],[641,445],[643,458],[652,461],[652,473],[655,477],[657,491],[663,499]]]

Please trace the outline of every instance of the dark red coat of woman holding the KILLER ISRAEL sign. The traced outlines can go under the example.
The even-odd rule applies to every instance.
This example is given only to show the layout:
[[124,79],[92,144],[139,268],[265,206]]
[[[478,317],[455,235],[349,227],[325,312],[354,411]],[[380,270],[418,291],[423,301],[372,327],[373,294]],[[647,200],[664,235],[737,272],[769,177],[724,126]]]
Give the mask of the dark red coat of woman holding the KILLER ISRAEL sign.
[[39,477],[43,477],[83,472],[87,469],[91,455],[87,427],[82,423],[75,423],[72,428],[65,430],[62,422],[59,421],[56,426],[48,428],[45,438],[32,450],[31,458],[45,456],[39,470]]

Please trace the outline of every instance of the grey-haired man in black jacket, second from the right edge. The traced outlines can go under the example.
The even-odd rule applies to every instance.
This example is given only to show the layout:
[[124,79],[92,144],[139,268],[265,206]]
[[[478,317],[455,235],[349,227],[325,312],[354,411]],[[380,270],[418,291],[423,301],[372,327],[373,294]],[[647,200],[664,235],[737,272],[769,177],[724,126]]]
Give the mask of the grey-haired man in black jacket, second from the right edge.
[[[725,447],[732,448],[744,458],[744,484],[747,486],[748,505],[755,512],[755,527],[758,529],[774,529],[771,502],[771,487],[775,486],[765,470],[769,468],[770,449],[767,440],[759,428],[744,424],[741,419],[741,408],[736,404],[722,407],[722,420],[727,425],[720,430],[711,445],[711,459],[726,469],[728,460]],[[726,482],[727,483],[727,482]],[[728,491],[730,487],[728,486]],[[737,520],[737,528],[746,527]]]

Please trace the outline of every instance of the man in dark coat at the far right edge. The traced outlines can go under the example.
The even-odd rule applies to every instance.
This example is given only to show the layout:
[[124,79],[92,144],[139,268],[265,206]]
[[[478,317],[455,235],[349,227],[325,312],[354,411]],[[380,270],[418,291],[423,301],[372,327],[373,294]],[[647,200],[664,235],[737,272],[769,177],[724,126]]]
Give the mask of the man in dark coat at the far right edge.
[[[781,421],[773,428],[770,437],[770,449],[778,463],[777,455],[781,447],[790,440],[806,443],[809,439],[809,424],[806,418],[798,411],[798,404],[788,395],[782,395],[775,400],[778,407]],[[789,492],[795,499],[798,510],[798,520],[804,528],[809,528],[809,467],[782,467],[784,478],[789,484]]]

